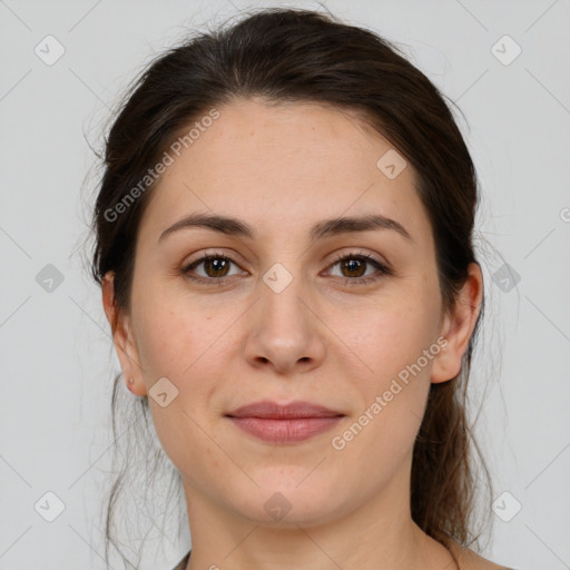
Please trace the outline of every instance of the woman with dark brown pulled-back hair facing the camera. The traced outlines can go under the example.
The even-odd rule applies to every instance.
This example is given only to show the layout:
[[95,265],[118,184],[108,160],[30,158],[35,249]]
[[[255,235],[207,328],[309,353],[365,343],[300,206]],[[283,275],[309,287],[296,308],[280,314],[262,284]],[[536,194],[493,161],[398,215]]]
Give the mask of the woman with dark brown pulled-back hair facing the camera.
[[184,489],[177,569],[504,568],[468,548],[476,203],[438,89],[334,17],[263,10],[142,75],[92,272],[114,402]]

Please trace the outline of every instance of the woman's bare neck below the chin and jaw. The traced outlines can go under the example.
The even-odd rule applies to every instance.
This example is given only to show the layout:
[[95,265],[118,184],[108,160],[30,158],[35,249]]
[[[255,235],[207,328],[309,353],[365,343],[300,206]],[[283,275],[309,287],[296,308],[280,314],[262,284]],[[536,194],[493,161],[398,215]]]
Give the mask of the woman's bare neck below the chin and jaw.
[[193,544],[187,570],[455,569],[446,548],[413,522],[402,484],[362,498],[356,508],[336,505],[320,520],[291,510],[271,525],[244,519],[186,483],[185,492]]

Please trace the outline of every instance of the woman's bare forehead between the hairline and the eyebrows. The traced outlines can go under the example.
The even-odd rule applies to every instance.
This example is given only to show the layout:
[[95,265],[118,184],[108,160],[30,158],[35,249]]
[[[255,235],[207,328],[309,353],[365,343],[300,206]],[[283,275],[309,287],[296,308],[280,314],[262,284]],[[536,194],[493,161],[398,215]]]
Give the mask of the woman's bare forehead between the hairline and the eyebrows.
[[379,160],[393,156],[393,145],[354,115],[254,100],[217,110],[179,156],[170,153],[141,220],[150,234],[197,210],[247,219],[262,234],[370,213],[410,220],[412,237],[429,230],[412,166],[386,176]]

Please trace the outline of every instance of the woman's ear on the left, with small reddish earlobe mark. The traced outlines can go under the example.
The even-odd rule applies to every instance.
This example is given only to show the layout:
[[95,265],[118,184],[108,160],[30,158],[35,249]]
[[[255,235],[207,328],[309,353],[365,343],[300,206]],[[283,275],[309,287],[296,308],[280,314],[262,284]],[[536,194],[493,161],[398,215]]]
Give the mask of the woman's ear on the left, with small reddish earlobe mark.
[[[115,275],[112,272],[108,272],[102,278],[101,289],[102,306],[107,321],[111,326],[112,342],[119,357],[122,377],[127,387],[134,394],[144,396],[147,390],[139,365],[138,350],[132,335],[130,316],[115,303]],[[130,385],[128,383],[129,379],[132,379],[132,384]]]

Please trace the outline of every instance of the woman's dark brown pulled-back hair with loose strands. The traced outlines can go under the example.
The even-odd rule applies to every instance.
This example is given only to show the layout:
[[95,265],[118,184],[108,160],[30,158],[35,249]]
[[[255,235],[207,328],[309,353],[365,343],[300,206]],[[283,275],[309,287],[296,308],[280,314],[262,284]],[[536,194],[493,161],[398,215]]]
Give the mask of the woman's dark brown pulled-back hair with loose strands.
[[[214,107],[250,98],[332,105],[361,117],[391,141],[417,175],[435,242],[443,306],[451,311],[469,264],[476,263],[472,233],[479,196],[473,163],[444,96],[379,35],[332,14],[277,8],[186,38],[155,59],[126,96],[106,140],[91,266],[98,283],[114,273],[117,308],[129,308],[137,229],[153,185],[116,219],[109,220],[106,213],[116,212],[180,129]],[[453,537],[463,546],[479,540],[472,520],[479,487],[473,450],[491,489],[466,415],[466,381],[481,315],[460,374],[431,384],[411,474],[415,523],[436,540]],[[112,391],[114,430],[120,384],[119,374]],[[146,397],[131,405],[139,406],[148,428]],[[120,436],[117,431],[115,435]],[[165,462],[158,446],[155,456],[156,464]],[[125,461],[130,461],[129,453]],[[111,520],[122,476],[112,488],[107,513],[106,539],[115,546]]]

